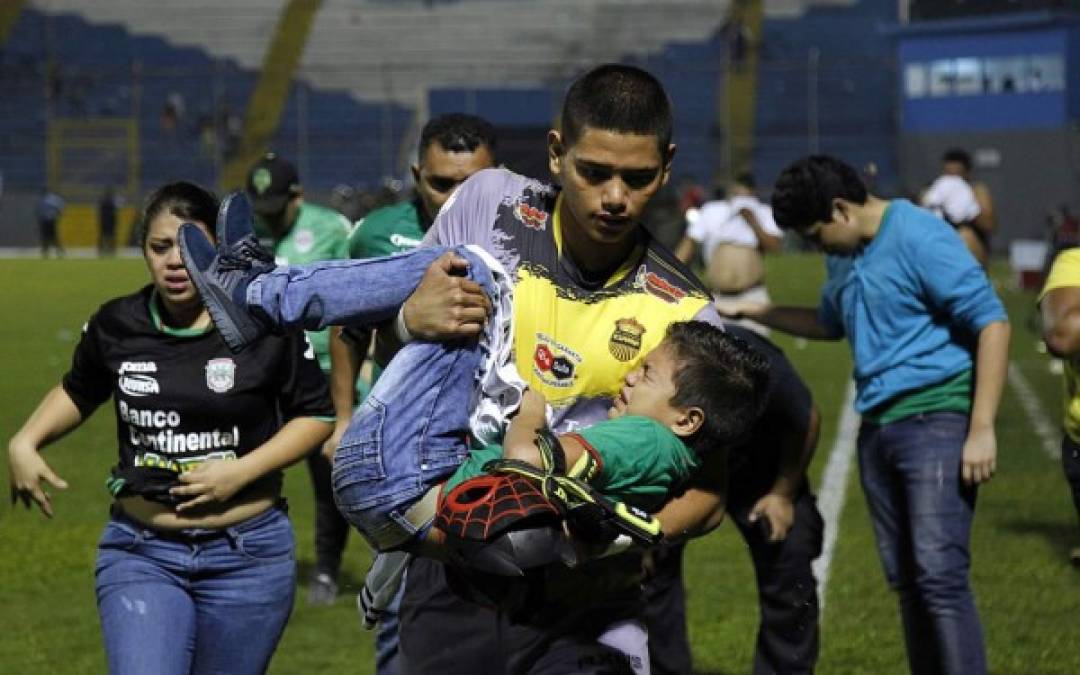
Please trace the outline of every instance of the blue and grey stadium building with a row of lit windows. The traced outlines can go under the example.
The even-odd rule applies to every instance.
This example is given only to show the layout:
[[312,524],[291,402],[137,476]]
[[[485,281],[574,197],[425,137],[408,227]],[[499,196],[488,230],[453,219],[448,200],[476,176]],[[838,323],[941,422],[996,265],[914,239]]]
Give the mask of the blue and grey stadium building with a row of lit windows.
[[897,31],[900,165],[917,193],[942,153],[967,149],[995,198],[995,251],[1042,239],[1080,201],[1080,18],[1050,12],[913,24]]

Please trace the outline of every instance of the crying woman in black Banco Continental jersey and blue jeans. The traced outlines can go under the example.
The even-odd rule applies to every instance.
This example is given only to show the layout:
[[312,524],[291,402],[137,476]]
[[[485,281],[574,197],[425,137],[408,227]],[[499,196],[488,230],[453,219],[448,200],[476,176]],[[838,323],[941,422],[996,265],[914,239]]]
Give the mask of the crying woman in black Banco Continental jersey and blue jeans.
[[9,445],[13,492],[52,516],[42,482],[67,485],[40,449],[113,399],[120,457],[95,572],[111,673],[265,672],[293,607],[281,470],[329,435],[334,410],[302,333],[232,354],[213,329],[176,233],[185,221],[208,233],[216,212],[189,183],[150,197],[151,283],[91,318]]

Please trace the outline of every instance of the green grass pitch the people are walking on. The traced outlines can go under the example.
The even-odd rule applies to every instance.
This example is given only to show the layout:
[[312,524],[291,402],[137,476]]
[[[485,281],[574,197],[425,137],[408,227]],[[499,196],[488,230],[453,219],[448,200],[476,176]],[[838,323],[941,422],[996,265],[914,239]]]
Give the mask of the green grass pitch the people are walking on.
[[[819,258],[787,256],[770,261],[772,295],[780,302],[813,302],[821,280]],[[1003,279],[1003,274],[997,278]],[[22,424],[41,395],[68,366],[79,329],[107,298],[145,283],[137,260],[2,260],[0,284],[0,435]],[[1004,286],[1004,284],[1002,284]],[[1013,321],[1012,360],[1030,382],[1041,409],[1059,421],[1061,383],[1035,349],[1028,328],[1032,295],[1002,289]],[[833,447],[850,375],[842,343],[797,343],[780,337],[810,383],[822,410],[821,445],[811,476]],[[82,429],[46,451],[71,487],[54,499],[56,517],[0,508],[0,672],[102,673],[105,671],[94,607],[93,566],[107,517],[104,477],[116,461],[114,422],[104,406]],[[1080,570],[1067,563],[1080,543],[1058,462],[1043,448],[1016,390],[1005,391],[998,421],[999,472],[980,495],[973,542],[973,583],[994,673],[1080,673],[1071,642],[1080,610]],[[6,481],[6,470],[4,471]],[[286,491],[296,525],[301,584],[312,563],[312,509],[307,470],[287,473]],[[838,523],[835,557],[825,592],[819,672],[906,672],[895,602],[886,589],[854,469]],[[271,673],[370,673],[372,634],[360,630],[353,605],[367,565],[359,538],[350,540],[342,594],[329,608],[309,608],[306,589]],[[747,673],[757,623],[750,558],[730,526],[694,542],[686,581],[690,636],[701,673]]]

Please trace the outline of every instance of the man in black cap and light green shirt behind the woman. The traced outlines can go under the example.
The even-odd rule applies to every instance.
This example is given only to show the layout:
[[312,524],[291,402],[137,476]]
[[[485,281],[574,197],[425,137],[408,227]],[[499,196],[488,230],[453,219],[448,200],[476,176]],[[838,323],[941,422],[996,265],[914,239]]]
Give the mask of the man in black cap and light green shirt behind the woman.
[[[303,200],[303,188],[292,163],[274,153],[266,154],[247,174],[247,195],[256,217],[273,239],[279,265],[306,265],[348,257],[347,241],[352,226],[338,212]],[[330,373],[329,329],[309,330],[308,342],[327,376]],[[367,384],[353,379],[354,394],[362,397]],[[335,444],[308,456],[315,495],[315,567],[308,586],[308,603],[330,605],[337,597],[337,573],[349,536],[349,524],[338,513],[330,489],[330,462]]]

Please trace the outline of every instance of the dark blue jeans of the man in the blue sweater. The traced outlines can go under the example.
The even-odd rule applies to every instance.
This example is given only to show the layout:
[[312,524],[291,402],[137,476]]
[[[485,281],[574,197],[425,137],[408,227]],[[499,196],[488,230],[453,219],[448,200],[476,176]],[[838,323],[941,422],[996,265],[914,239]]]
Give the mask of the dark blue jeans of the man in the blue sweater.
[[859,465],[878,554],[900,596],[908,665],[918,675],[986,673],[969,585],[974,486],[960,476],[968,417],[864,422]]

